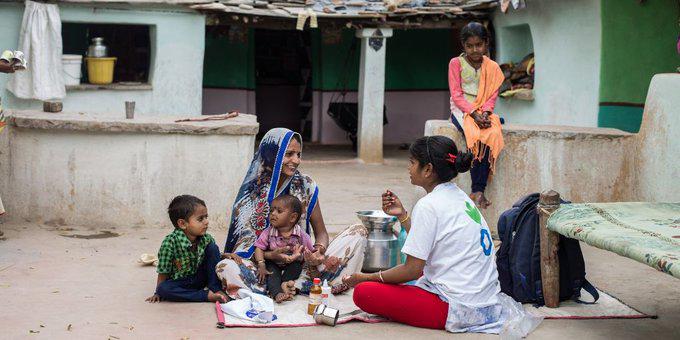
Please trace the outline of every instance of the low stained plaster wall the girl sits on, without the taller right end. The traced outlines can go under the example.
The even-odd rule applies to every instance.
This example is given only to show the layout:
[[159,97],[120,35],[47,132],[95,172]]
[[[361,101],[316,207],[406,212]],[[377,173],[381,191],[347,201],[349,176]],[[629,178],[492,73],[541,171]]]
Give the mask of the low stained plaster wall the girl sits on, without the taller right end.
[[[449,121],[431,120],[425,135],[443,135],[465,147],[462,133]],[[505,148],[485,195],[482,210],[496,233],[500,214],[523,196],[554,189],[572,202],[626,202],[633,199],[634,135],[617,129],[507,124]],[[605,150],[605,151],[603,151]],[[470,173],[454,179],[470,193]],[[423,192],[420,192],[422,195]]]

